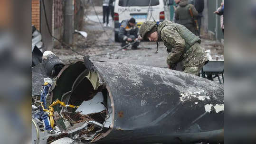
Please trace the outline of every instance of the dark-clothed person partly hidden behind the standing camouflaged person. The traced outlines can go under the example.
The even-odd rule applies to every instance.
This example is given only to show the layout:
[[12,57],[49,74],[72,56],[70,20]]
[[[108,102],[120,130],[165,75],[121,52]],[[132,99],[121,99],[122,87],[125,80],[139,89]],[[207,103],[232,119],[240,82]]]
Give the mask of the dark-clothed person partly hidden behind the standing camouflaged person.
[[191,0],[191,4],[195,6],[198,11],[198,16],[196,17],[198,21],[198,32],[200,36],[200,29],[201,29],[201,19],[203,17],[203,10],[204,10],[204,0]]

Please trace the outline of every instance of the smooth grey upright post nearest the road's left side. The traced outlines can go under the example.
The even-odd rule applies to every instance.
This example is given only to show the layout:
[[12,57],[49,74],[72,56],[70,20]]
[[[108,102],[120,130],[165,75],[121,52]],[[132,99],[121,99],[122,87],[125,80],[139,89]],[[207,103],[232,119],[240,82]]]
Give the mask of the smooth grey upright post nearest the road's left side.
[[64,16],[64,42],[73,43],[74,32],[74,0],[65,0],[65,16]]

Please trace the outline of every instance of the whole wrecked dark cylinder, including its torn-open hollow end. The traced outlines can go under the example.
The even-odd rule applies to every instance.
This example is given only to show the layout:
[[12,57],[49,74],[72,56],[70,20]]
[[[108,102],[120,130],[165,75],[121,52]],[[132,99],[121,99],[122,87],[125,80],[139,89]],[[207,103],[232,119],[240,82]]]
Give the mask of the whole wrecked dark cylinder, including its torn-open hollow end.
[[106,144],[224,141],[223,85],[169,69],[84,60],[66,65],[53,90],[53,100],[87,103],[78,111],[55,107],[73,125],[64,132]]

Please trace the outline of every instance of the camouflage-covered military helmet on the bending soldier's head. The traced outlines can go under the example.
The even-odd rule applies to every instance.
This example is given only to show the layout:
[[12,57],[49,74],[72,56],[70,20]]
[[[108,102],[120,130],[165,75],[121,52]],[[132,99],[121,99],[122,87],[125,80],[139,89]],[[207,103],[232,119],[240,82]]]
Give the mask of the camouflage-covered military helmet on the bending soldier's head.
[[157,24],[154,21],[145,21],[142,23],[141,27],[140,27],[140,36],[143,39],[147,39],[147,34],[148,32],[150,32],[150,30],[155,27]]

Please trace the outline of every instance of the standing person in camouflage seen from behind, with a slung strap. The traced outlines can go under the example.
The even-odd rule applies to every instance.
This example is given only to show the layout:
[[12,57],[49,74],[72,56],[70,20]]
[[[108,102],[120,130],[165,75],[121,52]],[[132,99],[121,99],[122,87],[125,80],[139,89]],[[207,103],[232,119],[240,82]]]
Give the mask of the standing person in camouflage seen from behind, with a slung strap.
[[188,0],[180,0],[178,8],[175,10],[175,22],[187,27],[193,34],[199,35],[189,9],[191,9],[193,17],[196,18],[198,11],[194,5],[189,4]]

